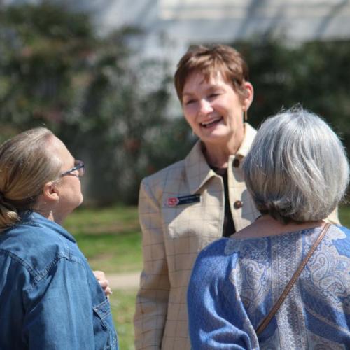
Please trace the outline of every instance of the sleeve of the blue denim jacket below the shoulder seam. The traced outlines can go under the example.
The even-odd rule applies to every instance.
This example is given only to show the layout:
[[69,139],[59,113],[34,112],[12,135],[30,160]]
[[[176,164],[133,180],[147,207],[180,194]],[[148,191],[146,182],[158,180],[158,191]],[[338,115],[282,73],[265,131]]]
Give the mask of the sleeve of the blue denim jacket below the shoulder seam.
[[50,272],[25,293],[22,334],[28,349],[95,349],[99,325],[85,267],[61,258],[48,268]]

